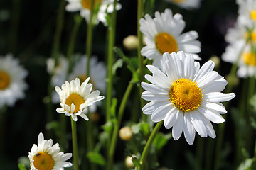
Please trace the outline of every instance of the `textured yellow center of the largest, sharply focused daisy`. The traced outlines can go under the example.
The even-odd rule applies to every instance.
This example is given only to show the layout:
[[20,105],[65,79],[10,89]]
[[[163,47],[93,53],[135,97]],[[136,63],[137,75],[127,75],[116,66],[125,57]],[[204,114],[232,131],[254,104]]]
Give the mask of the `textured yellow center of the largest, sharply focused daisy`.
[[183,112],[193,111],[202,102],[203,94],[199,86],[188,79],[178,79],[171,85],[170,101]]

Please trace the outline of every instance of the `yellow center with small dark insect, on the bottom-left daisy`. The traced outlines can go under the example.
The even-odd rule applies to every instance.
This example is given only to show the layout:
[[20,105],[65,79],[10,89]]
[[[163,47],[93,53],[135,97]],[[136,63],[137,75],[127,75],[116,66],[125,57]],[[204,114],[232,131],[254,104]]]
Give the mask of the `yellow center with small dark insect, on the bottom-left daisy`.
[[51,170],[54,166],[53,157],[46,152],[38,152],[33,157],[33,164],[38,170]]

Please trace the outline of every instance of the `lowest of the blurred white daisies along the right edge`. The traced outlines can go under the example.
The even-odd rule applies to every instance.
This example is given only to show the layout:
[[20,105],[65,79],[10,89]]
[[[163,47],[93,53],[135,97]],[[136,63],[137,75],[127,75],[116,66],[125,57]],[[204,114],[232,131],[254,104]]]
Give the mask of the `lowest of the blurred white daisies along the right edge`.
[[234,42],[226,47],[222,60],[235,64],[238,62],[238,77],[256,77],[256,53],[252,52],[252,45],[244,40]]

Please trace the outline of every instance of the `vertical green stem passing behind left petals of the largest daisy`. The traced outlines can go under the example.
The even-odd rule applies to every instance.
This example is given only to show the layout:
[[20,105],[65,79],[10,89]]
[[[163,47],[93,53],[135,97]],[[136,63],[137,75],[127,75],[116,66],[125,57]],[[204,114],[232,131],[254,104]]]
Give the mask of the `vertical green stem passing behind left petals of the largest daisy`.
[[[137,36],[138,36],[138,61],[139,61],[139,81],[142,82],[144,80],[144,64],[143,64],[143,57],[141,54],[142,50],[142,32],[139,30],[139,20],[142,18],[143,15],[143,8],[144,3],[143,0],[138,0],[138,11],[137,11]],[[143,89],[142,86],[139,86],[139,94],[142,94]],[[145,105],[145,101],[140,98],[141,108]],[[142,114],[142,120],[146,121],[146,115]]]

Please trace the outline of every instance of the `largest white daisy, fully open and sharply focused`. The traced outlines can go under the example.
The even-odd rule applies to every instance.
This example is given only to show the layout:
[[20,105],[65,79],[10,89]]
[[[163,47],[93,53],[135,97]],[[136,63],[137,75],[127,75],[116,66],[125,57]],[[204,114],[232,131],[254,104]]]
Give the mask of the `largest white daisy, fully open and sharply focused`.
[[145,78],[151,84],[142,82],[146,90],[142,98],[150,101],[143,108],[144,114],[151,115],[153,122],[164,120],[164,126],[172,128],[174,140],[184,132],[188,144],[193,144],[196,132],[201,137],[214,138],[213,123],[223,123],[220,115],[227,113],[220,102],[229,101],[235,94],[223,94],[227,81],[218,72],[213,71],[214,62],[208,61],[200,68],[192,55],[184,52],[166,52],[163,55],[162,72],[148,65],[151,75]]

